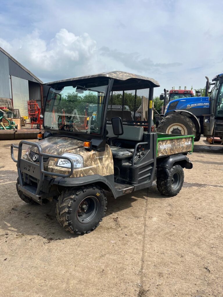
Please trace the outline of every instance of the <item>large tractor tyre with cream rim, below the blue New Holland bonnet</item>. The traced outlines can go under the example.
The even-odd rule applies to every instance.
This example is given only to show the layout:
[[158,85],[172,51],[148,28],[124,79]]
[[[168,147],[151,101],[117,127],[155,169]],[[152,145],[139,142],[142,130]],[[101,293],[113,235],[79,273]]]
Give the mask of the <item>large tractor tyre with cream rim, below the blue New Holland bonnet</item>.
[[175,113],[166,116],[157,128],[158,133],[167,134],[181,134],[181,135],[195,135],[197,130],[195,124],[187,116]]

